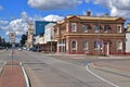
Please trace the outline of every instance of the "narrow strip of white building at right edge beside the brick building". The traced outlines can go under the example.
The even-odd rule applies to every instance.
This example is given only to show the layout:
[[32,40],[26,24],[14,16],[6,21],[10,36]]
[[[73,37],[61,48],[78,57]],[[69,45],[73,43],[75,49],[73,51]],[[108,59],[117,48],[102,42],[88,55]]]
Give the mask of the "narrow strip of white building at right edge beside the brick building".
[[126,53],[130,53],[130,24],[128,24],[126,32]]

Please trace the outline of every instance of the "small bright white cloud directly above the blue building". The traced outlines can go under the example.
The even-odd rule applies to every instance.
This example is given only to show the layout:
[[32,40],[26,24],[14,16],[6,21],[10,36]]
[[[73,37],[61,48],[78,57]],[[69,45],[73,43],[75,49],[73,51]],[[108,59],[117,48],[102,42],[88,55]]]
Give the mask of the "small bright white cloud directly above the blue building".
[[43,17],[44,21],[52,21],[52,22],[62,21],[63,18],[64,18],[63,16],[53,15],[53,14],[50,14],[50,15]]

